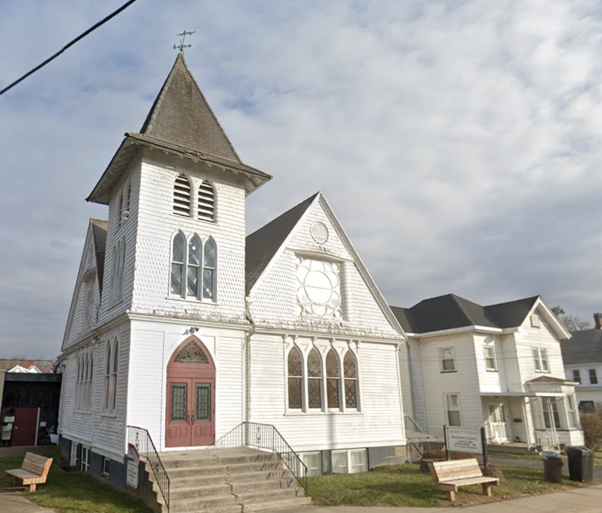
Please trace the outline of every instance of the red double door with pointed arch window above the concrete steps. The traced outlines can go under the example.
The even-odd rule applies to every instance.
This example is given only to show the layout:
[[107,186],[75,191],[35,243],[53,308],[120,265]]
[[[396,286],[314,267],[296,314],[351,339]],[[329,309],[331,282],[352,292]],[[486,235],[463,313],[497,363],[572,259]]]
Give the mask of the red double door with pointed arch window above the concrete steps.
[[216,368],[196,337],[176,349],[167,364],[166,447],[215,442]]

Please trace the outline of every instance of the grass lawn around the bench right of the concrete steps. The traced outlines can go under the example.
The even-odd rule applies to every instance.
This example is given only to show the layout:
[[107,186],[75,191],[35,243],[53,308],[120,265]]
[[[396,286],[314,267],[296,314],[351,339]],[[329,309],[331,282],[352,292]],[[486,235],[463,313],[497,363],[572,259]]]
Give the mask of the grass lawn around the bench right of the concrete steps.
[[[456,494],[456,505],[473,505],[504,499],[518,499],[578,488],[585,483],[563,479],[562,484],[546,483],[543,470],[500,466],[505,480],[492,486],[493,498],[482,495],[480,485],[464,486]],[[445,493],[435,489],[430,474],[418,465],[390,465],[360,474],[331,474],[308,478],[309,496],[318,506],[449,506]]]

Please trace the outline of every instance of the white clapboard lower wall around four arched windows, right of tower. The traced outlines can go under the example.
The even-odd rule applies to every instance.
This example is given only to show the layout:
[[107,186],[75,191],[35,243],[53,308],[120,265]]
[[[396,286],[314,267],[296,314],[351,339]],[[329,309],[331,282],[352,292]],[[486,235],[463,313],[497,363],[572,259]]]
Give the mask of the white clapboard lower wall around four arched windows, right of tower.
[[[358,349],[361,412],[287,413],[284,336],[251,339],[250,418],[273,424],[294,450],[403,445],[402,398],[396,348],[361,342]],[[299,341],[300,345],[308,342]],[[328,341],[318,340],[323,352]],[[343,350],[346,342],[335,341]]]

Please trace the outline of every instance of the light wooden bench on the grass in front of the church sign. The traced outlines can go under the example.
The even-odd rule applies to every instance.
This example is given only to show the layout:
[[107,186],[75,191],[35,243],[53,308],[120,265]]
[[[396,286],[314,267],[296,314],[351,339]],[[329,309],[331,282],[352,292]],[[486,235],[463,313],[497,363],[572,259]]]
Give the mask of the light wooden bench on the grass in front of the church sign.
[[476,459],[430,462],[429,468],[435,488],[447,493],[450,502],[456,500],[460,486],[481,485],[483,494],[491,497],[491,486],[498,486],[500,481],[497,477],[484,477]]

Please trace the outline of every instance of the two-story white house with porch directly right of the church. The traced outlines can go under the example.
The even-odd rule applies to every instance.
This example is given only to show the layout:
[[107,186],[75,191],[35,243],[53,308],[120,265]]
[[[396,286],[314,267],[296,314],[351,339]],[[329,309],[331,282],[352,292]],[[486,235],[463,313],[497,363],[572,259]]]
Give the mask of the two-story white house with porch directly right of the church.
[[485,425],[492,444],[583,443],[560,354],[570,335],[541,297],[481,306],[449,294],[392,310],[408,336],[406,413],[423,432]]

